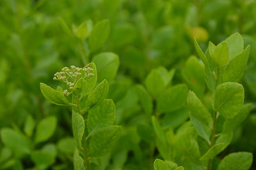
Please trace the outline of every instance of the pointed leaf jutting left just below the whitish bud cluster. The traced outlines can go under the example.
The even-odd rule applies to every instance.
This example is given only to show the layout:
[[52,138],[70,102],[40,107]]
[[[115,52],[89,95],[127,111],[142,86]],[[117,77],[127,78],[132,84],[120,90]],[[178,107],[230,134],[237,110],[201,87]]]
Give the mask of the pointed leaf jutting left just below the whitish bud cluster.
[[47,99],[49,102],[60,106],[68,105],[69,102],[63,93],[52,89],[51,87],[45,85],[45,83],[40,83],[40,89],[45,99]]

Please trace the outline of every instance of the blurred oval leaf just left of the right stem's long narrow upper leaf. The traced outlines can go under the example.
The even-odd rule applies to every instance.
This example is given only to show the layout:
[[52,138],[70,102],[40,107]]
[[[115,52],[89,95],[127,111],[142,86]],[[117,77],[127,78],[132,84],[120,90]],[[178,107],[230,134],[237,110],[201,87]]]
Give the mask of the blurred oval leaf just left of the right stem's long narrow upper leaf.
[[205,90],[205,69],[204,65],[195,57],[191,56],[186,60],[182,77],[197,96],[202,97]]

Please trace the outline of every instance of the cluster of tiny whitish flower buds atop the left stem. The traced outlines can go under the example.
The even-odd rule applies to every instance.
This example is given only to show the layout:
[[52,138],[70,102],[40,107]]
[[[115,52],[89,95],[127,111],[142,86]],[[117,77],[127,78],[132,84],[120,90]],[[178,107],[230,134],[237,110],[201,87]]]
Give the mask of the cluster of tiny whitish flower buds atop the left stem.
[[74,89],[76,81],[79,80],[79,78],[81,78],[80,76],[83,75],[83,78],[94,76],[92,71],[93,69],[89,66],[86,66],[84,68],[76,66],[70,66],[70,68],[63,67],[61,69],[61,72],[57,72],[54,74],[53,80],[59,80],[63,83],[66,83],[68,85],[68,89],[65,89],[63,91],[63,94],[65,96],[69,96],[70,94],[72,94],[72,90]]

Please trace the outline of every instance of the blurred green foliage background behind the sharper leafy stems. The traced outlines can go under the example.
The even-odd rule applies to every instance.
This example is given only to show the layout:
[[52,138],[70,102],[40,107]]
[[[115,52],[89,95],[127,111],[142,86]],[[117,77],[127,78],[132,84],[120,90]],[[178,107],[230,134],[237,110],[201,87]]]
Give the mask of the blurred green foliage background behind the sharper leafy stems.
[[[115,124],[124,127],[124,134],[117,141],[122,145],[115,146],[107,168],[148,169],[145,167],[148,164],[145,163],[148,161],[147,147],[141,143],[136,131],[137,125],[145,122],[145,113],[141,111],[134,90],[136,84],[144,84],[147,74],[159,66],[176,69],[173,84],[185,82],[182,70],[186,59],[196,55],[193,37],[206,50],[209,41],[218,44],[234,32],[243,36],[244,46],[251,45],[248,67],[241,83],[246,92],[245,103],[253,106],[249,117],[234,132],[232,144],[225,153],[243,150],[255,155],[255,1],[1,0],[0,128],[12,127],[20,132],[29,115],[36,124],[49,115],[57,117],[54,135],[45,143],[31,146],[42,148],[47,143],[56,146],[54,162],[48,169],[72,169],[72,151],[63,151],[65,147],[60,145],[61,139],[72,137],[71,115],[68,108],[46,101],[39,83],[56,87],[57,83],[52,81],[54,73],[64,66],[83,67],[86,64],[81,42],[63,31],[60,18],[70,28],[89,19],[93,25],[104,19],[110,21],[107,43],[90,53],[90,60],[100,52],[114,52],[120,59],[109,98],[116,104]],[[173,129],[182,123],[173,125]],[[33,136],[29,138],[33,139]],[[29,169],[35,165],[29,155],[17,157],[1,142],[0,153],[0,169]],[[4,160],[6,153],[10,156]],[[256,169],[255,162],[252,169]]]

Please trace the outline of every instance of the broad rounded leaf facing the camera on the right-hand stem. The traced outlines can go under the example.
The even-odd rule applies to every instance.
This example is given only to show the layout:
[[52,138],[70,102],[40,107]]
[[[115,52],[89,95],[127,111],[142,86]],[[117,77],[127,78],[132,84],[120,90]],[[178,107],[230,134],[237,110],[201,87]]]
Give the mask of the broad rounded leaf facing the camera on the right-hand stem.
[[214,108],[224,118],[236,116],[244,103],[243,85],[227,82],[216,87]]

